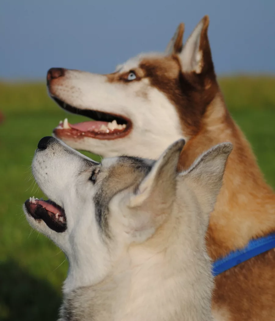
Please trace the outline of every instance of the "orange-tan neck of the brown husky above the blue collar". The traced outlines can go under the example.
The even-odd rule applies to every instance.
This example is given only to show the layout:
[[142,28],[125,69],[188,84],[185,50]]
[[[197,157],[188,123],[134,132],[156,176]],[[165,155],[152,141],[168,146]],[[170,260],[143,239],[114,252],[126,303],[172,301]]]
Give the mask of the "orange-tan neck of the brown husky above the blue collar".
[[218,91],[206,108],[201,130],[185,145],[179,168],[188,168],[198,155],[222,142],[231,142],[234,148],[210,217],[207,243],[212,259],[244,247],[253,237],[275,230],[274,192],[264,181],[250,144],[231,118]]

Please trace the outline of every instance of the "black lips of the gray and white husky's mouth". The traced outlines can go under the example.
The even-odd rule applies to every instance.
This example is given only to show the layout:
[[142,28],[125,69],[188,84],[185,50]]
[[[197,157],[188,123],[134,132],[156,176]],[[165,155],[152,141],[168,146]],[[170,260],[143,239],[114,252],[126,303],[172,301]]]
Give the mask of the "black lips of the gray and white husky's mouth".
[[[60,211],[64,212],[64,209],[61,206],[57,205],[55,202],[53,202],[51,200],[47,200],[45,202],[53,204]],[[58,224],[56,221],[54,221],[51,218],[51,216],[48,214],[48,211],[44,207],[42,207],[42,205],[40,205],[40,204],[36,205],[35,212],[33,212],[33,213],[30,210],[30,206],[31,206],[30,200],[26,200],[25,208],[26,208],[26,211],[27,211],[28,215],[30,215],[32,218],[34,218],[37,221],[40,221],[40,220],[44,221],[46,223],[46,225],[51,230],[54,230],[57,233],[62,233],[67,229],[67,224],[66,223],[64,223],[62,225]],[[64,217],[66,217],[66,216],[64,215]]]

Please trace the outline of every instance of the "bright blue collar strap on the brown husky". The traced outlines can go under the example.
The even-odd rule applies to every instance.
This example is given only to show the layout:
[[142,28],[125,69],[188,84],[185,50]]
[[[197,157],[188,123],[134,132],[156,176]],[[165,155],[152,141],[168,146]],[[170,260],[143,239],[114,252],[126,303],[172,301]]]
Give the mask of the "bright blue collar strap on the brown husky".
[[267,236],[262,236],[258,239],[252,239],[248,244],[236,251],[230,252],[227,256],[216,260],[213,263],[212,274],[214,276],[231,269],[244,261],[251,259],[263,252],[271,250],[275,247],[275,233],[271,233]]

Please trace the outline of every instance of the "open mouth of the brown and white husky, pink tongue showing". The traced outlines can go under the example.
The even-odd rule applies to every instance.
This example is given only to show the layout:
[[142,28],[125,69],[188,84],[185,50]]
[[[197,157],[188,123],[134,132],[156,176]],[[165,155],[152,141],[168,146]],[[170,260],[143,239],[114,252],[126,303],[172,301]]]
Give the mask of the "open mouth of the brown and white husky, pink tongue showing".
[[54,134],[59,138],[92,137],[97,139],[116,139],[128,135],[132,129],[130,119],[90,109],[80,109],[66,104],[64,101],[52,97],[63,109],[77,115],[89,117],[93,120],[77,124],[70,124],[67,118],[60,121],[54,129]]

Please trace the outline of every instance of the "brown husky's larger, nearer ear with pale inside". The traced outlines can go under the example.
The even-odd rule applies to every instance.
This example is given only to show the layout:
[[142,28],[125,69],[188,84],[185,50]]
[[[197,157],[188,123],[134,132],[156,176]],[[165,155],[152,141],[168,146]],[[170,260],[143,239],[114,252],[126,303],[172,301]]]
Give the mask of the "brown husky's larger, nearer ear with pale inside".
[[178,55],[183,72],[201,74],[213,67],[211,50],[207,36],[209,17],[204,16],[187,39]]

